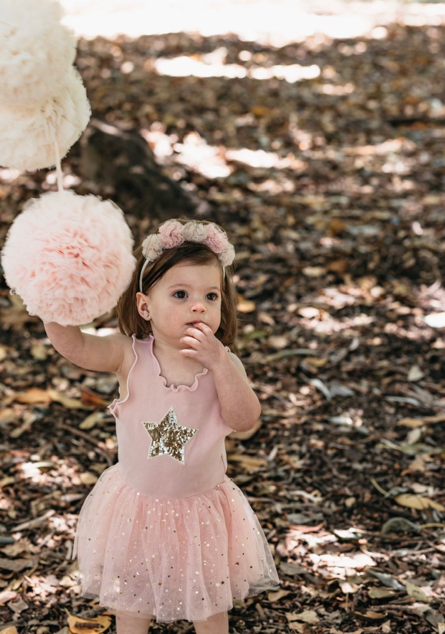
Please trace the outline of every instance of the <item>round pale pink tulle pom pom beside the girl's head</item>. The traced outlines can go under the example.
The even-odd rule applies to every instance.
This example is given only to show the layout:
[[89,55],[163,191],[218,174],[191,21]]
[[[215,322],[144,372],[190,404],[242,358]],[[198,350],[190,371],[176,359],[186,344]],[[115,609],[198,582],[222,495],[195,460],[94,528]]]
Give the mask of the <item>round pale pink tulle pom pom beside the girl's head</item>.
[[136,261],[124,214],[110,200],[60,191],[33,198],[2,252],[8,286],[43,321],[81,325],[115,306]]

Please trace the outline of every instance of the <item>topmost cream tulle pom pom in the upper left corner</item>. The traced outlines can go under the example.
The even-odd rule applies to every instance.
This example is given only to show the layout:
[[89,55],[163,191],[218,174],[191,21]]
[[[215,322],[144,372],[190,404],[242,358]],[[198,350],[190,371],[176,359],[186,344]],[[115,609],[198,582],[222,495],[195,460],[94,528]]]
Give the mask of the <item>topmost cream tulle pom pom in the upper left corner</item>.
[[1,0],[0,103],[41,103],[60,91],[76,39],[53,0]]

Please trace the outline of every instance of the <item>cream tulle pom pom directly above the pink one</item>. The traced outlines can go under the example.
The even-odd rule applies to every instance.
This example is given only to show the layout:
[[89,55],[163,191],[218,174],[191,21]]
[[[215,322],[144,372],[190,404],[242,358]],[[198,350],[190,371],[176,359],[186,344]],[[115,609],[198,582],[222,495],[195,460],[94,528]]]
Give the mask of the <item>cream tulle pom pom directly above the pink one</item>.
[[86,128],[91,108],[81,75],[72,66],[60,92],[42,104],[0,105],[0,165],[33,171],[56,164]]

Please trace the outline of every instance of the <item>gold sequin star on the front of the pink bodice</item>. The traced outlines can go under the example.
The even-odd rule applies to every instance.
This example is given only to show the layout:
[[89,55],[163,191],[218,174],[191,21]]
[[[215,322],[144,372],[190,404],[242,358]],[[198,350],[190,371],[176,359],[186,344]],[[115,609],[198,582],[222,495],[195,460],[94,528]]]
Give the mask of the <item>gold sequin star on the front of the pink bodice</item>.
[[197,429],[180,425],[172,407],[158,423],[142,424],[152,437],[147,460],[167,455],[184,464],[185,444],[195,436]]

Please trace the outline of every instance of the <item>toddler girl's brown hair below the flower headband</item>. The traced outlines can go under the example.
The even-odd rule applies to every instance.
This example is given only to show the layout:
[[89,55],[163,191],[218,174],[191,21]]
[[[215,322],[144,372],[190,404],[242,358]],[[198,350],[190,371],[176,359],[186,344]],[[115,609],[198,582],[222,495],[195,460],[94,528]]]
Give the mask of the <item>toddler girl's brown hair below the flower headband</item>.
[[[179,221],[183,221],[182,218]],[[200,221],[205,223],[206,221]],[[206,223],[207,224],[207,223]],[[151,233],[157,233],[158,227],[153,229]],[[150,321],[141,318],[136,307],[136,293],[139,291],[139,275],[145,263],[145,256],[142,253],[142,246],[134,251],[136,257],[136,269],[132,276],[131,283],[124,294],[121,295],[117,302],[117,318],[120,332],[124,335],[136,335],[138,339],[144,339],[152,333]],[[190,262],[191,264],[210,264],[217,262],[219,259],[216,254],[200,242],[183,242],[179,247],[166,249],[154,261],[146,266],[143,279],[142,289],[146,294],[160,278],[162,278],[169,269],[179,262]],[[238,322],[236,317],[236,290],[233,284],[233,268],[226,266],[225,275],[222,276],[221,269],[221,323],[215,333],[217,339],[224,346],[228,346],[232,352],[238,354],[236,347],[236,332]]]

